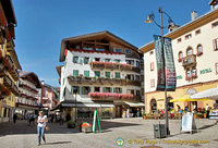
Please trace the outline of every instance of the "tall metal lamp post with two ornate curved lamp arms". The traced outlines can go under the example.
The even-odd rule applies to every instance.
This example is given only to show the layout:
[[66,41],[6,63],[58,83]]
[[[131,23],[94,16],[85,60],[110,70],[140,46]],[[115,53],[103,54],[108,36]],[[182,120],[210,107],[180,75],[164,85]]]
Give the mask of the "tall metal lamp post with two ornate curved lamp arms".
[[166,79],[166,83],[165,83],[166,84],[166,87],[165,87],[166,132],[167,132],[167,135],[170,135],[169,119],[168,119],[167,73],[166,73],[166,59],[165,59],[166,55],[165,55],[165,51],[164,51],[165,50],[164,49],[164,44],[165,44],[165,41],[164,41],[164,28],[166,28],[166,27],[164,27],[164,25],[162,25],[162,13],[168,16],[168,23],[169,23],[168,27],[169,26],[175,26],[175,25],[174,25],[173,21],[171,20],[171,17],[166,12],[162,11],[161,7],[159,7],[158,12],[160,14],[160,25],[155,21],[154,13],[148,14],[147,20],[145,21],[145,23],[153,23],[154,22],[161,29],[161,50],[162,50],[162,55],[164,55],[164,67],[165,67],[165,79]]

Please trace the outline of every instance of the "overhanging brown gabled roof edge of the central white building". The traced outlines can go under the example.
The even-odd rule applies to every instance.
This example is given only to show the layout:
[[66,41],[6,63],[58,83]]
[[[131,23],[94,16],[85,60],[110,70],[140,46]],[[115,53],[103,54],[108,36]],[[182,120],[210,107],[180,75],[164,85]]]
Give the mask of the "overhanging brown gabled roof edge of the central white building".
[[134,49],[137,51],[137,47],[131,45],[130,42],[123,40],[122,38],[111,34],[108,30],[102,30],[102,32],[97,32],[97,33],[92,33],[92,34],[86,34],[86,35],[81,35],[81,36],[75,36],[75,37],[70,37],[70,38],[63,38],[61,40],[61,51],[60,51],[60,62],[64,61],[64,49],[66,46],[66,42],[76,42],[81,40],[87,40],[87,39],[93,39],[93,38],[107,38],[109,40],[113,40],[116,42],[119,42],[121,45],[124,45],[131,49]]

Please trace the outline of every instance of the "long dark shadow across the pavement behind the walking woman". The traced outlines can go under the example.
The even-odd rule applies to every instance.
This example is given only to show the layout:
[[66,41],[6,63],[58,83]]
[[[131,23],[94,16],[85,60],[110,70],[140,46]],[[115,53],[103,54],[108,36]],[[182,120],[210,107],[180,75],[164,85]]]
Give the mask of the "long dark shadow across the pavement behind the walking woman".
[[[66,124],[59,125],[59,123],[48,123],[50,130],[47,131],[46,134],[78,134],[81,133],[78,123],[81,122],[77,122],[76,128],[68,128]],[[136,126],[141,124],[100,121],[100,125],[101,125],[101,133],[109,133],[112,132],[112,128],[116,127]],[[96,133],[98,133],[98,126],[96,126]],[[0,137],[5,135],[20,135],[20,134],[37,134],[37,124],[29,126],[27,125],[26,121],[17,121],[15,124],[12,122],[0,123]]]

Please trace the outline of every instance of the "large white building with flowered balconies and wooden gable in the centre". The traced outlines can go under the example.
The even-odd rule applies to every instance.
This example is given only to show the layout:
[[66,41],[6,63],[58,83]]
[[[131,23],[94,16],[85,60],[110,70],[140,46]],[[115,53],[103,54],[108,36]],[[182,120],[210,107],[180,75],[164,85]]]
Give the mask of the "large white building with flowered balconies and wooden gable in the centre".
[[57,67],[63,114],[92,118],[97,109],[100,118],[121,118],[130,103],[132,113],[143,104],[142,55],[113,34],[106,30],[62,39],[60,62],[64,62]]

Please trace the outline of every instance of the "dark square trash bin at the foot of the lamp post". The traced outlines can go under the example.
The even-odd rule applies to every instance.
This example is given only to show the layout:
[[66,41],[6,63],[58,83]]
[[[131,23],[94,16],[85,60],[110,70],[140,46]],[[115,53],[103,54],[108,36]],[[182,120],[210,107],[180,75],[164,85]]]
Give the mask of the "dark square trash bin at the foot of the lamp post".
[[166,138],[166,125],[165,124],[154,124],[154,136],[155,138]]

